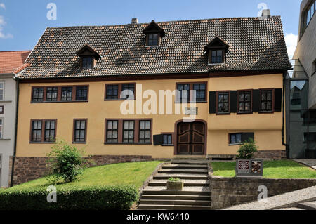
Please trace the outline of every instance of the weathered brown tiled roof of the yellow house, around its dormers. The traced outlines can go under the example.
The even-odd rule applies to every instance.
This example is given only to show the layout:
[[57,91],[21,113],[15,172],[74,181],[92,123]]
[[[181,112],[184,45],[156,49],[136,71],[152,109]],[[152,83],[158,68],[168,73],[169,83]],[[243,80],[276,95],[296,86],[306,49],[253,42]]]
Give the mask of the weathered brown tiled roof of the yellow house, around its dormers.
[[[216,70],[281,70],[291,67],[279,16],[157,22],[166,33],[159,47],[145,47],[146,24],[47,28],[20,78],[195,73]],[[228,44],[224,64],[208,65],[204,46],[215,37]],[[85,44],[102,57],[79,69]]]

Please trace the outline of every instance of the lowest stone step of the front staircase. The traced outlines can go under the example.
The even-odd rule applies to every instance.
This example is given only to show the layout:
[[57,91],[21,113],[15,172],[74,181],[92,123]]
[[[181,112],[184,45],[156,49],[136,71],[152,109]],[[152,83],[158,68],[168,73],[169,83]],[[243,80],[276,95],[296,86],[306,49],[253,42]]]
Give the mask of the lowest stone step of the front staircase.
[[168,204],[139,204],[138,209],[166,209],[166,210],[210,210],[211,206],[202,205],[168,205]]

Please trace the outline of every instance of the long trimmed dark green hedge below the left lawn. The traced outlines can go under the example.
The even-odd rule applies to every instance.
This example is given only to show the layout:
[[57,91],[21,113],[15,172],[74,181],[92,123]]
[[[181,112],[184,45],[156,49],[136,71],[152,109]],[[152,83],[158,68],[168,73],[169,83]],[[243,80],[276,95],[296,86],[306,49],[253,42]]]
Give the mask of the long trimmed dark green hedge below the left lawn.
[[0,191],[0,210],[111,210],[130,209],[138,190],[129,186],[60,187],[57,202],[47,202],[46,188]]

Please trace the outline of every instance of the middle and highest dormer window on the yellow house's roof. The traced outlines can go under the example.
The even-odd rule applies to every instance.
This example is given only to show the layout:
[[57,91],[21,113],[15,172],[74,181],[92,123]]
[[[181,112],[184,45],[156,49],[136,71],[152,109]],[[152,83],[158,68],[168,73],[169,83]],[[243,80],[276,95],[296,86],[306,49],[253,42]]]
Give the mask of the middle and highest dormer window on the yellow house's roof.
[[154,20],[150,22],[144,30],[143,34],[146,35],[145,46],[159,46],[161,39],[164,37],[164,29],[160,28]]

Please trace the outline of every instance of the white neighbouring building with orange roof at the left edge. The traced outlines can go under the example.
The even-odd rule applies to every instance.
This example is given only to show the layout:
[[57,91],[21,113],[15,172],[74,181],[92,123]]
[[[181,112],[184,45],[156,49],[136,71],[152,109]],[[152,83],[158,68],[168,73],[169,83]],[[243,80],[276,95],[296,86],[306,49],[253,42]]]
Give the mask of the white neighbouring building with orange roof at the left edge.
[[15,142],[16,84],[30,51],[0,51],[0,187],[8,187]]

